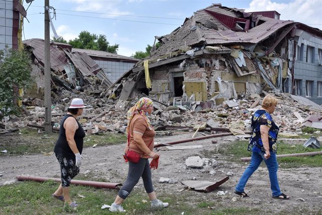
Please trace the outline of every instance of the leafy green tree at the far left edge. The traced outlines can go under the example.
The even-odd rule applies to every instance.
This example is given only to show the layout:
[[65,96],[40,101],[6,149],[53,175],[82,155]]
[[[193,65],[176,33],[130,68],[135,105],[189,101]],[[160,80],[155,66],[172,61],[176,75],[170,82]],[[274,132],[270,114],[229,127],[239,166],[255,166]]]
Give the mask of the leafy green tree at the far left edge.
[[17,89],[24,89],[32,83],[31,64],[25,51],[6,48],[0,50],[0,118],[18,111],[14,100],[21,99]]

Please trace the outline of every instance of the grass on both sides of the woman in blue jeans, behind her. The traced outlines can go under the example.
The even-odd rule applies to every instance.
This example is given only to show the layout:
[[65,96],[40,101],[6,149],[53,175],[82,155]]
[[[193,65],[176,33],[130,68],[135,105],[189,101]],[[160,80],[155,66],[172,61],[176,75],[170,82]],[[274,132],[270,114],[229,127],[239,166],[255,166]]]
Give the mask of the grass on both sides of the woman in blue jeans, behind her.
[[[247,151],[248,141],[234,141],[225,144],[218,149],[218,153],[226,155],[228,161],[241,162],[240,158],[251,157],[252,153]],[[321,149],[304,148],[302,145],[284,144],[282,141],[278,144],[277,155],[319,152]],[[233,155],[233,156],[231,156]],[[279,164],[283,168],[294,167],[320,167],[322,166],[322,156],[303,156],[303,157],[285,157],[277,158]],[[262,164],[263,165],[263,164]]]

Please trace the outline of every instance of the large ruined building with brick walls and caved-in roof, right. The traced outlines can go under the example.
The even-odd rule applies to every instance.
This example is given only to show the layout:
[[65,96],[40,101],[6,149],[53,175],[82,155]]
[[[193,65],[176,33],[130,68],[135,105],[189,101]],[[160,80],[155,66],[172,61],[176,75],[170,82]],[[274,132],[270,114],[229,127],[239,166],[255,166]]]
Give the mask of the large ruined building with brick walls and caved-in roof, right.
[[121,100],[145,93],[165,103],[178,97],[221,104],[270,89],[322,104],[322,31],[279,16],[220,4],[199,10],[156,37],[162,45],[109,93]]

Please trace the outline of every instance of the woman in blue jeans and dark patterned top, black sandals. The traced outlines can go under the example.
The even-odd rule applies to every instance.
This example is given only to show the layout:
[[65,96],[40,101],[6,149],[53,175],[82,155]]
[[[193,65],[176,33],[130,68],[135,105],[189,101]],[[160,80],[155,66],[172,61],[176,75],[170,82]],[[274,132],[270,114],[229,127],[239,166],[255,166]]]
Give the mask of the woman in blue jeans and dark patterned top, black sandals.
[[239,196],[249,196],[244,191],[246,183],[251,175],[258,169],[262,161],[264,161],[269,172],[272,197],[279,199],[289,199],[290,197],[281,192],[277,180],[278,163],[276,159],[276,139],[279,127],[275,124],[271,116],[276,105],[276,98],[267,95],[263,99],[262,108],[257,110],[252,117],[253,134],[248,146],[248,151],[252,152],[252,158],[250,165],[246,168],[235,187],[234,193]]

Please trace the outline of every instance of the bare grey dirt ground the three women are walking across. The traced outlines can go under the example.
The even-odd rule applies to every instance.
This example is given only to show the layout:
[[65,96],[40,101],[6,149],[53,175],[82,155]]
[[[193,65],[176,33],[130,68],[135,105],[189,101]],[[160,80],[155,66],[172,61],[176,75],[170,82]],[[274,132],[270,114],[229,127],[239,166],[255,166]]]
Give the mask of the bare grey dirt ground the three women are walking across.
[[[16,141],[15,135],[0,135],[0,141]],[[157,142],[167,142],[190,138],[191,136],[191,133],[176,136],[156,136],[155,140]],[[224,156],[216,153],[218,147],[231,141],[231,136],[213,139],[217,139],[218,143],[212,144],[211,139],[203,139],[176,145],[202,145],[203,148],[160,150],[159,167],[157,170],[152,171],[153,185],[156,192],[163,195],[167,193],[175,195],[189,193],[191,195],[191,192],[193,192],[194,197],[215,200],[220,202],[223,207],[231,205],[232,207],[261,208],[262,211],[263,208],[267,208],[268,213],[275,214],[317,214],[322,211],[322,168],[279,169],[278,178],[281,190],[291,196],[289,200],[279,200],[271,197],[268,171],[266,168],[260,167],[246,186],[245,190],[250,197],[240,198],[233,193],[233,190],[237,180],[247,167],[247,163],[227,162],[224,161]],[[20,141],[28,142],[31,140],[20,139]],[[109,182],[123,183],[127,174],[127,164],[124,163],[122,158],[124,147],[125,144],[84,149],[81,173],[98,175],[106,178]],[[163,147],[163,149],[165,148]],[[209,170],[187,168],[185,160],[190,156],[200,156],[210,160],[215,159],[218,161],[218,166],[213,168],[216,173],[210,175]],[[16,175],[21,174],[59,177],[59,166],[54,155],[1,156],[0,164],[0,173],[3,175],[0,177],[0,185],[15,181]],[[185,186],[181,184],[183,180],[193,179],[215,182],[225,178],[228,172],[233,173],[229,180],[209,193],[183,190]],[[158,183],[160,177],[172,178],[177,183]],[[138,183],[138,187],[143,187],[141,180]],[[227,193],[218,195],[218,191],[227,191]]]

